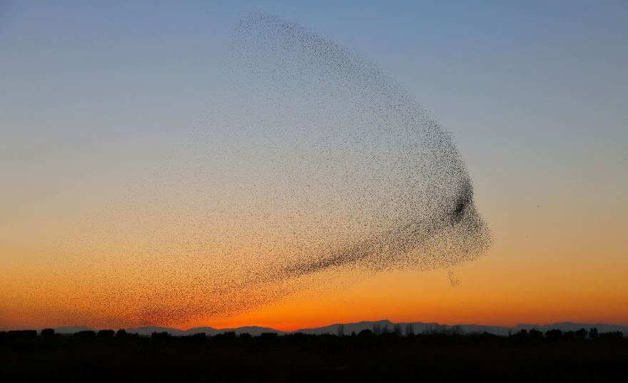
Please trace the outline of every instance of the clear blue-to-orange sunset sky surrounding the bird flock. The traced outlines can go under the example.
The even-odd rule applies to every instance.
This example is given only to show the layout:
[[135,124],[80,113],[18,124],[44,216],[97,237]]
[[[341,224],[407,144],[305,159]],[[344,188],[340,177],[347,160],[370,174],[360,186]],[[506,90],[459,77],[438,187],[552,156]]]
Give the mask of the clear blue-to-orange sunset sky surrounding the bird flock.
[[168,325],[628,324],[624,1],[0,1],[0,328],[82,324],[78,295],[32,287],[42,254],[211,120],[256,10],[373,61],[450,131],[493,245]]

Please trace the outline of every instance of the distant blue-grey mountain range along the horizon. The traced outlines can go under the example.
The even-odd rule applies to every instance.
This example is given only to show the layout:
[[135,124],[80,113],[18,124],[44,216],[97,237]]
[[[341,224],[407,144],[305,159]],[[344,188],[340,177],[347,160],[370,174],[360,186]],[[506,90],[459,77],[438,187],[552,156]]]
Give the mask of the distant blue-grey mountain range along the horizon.
[[[562,331],[577,331],[579,329],[589,330],[592,327],[596,327],[598,332],[609,332],[609,331],[621,331],[624,333],[624,337],[628,336],[628,326],[622,325],[607,325],[605,323],[574,323],[574,322],[559,322],[552,323],[550,325],[528,325],[528,324],[520,324],[514,327],[505,327],[505,326],[485,326],[485,325],[439,325],[438,323],[423,323],[423,322],[400,322],[394,323],[390,322],[390,320],[378,320],[378,321],[363,321],[363,322],[355,322],[355,323],[344,323],[344,324],[335,324],[329,325],[325,327],[315,327],[309,329],[301,329],[290,332],[284,332],[280,330],[275,330],[269,327],[258,327],[258,326],[245,326],[245,327],[236,327],[236,328],[226,328],[226,329],[216,329],[213,327],[195,327],[189,330],[177,330],[170,327],[137,327],[126,329],[126,332],[136,333],[139,335],[151,335],[153,332],[168,332],[173,336],[182,336],[182,335],[194,335],[205,333],[206,335],[217,335],[223,332],[236,332],[236,334],[240,335],[244,332],[248,332],[250,335],[258,336],[263,332],[275,332],[277,334],[293,334],[295,332],[301,332],[303,334],[312,334],[312,335],[322,335],[322,334],[338,334],[338,328],[343,326],[343,334],[350,335],[352,332],[358,334],[362,330],[373,330],[374,327],[379,327],[383,331],[393,331],[395,325],[400,325],[402,333],[405,334],[408,325],[412,325],[412,331],[415,334],[420,334],[422,332],[430,332],[430,331],[462,331],[465,334],[472,332],[489,332],[495,335],[508,335],[510,333],[515,333],[520,330],[540,330],[545,332],[547,330],[558,329]],[[65,326],[65,327],[56,327],[55,331],[61,334],[71,334],[78,331],[91,330],[86,326]]]

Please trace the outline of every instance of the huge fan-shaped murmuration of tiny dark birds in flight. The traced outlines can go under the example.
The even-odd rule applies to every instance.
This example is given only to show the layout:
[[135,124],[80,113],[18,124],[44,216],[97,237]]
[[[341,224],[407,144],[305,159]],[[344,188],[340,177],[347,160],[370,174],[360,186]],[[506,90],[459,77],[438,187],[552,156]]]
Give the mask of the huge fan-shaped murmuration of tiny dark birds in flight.
[[185,150],[65,241],[62,316],[186,323],[490,245],[450,134],[370,61],[253,13],[223,77]]

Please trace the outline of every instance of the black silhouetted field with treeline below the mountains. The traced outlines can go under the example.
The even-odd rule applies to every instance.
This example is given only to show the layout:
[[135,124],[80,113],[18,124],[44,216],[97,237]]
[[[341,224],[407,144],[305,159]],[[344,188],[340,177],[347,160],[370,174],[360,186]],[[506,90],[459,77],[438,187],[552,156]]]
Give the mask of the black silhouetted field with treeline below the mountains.
[[628,339],[621,332],[532,330],[509,337],[0,332],[1,382],[589,382],[617,380],[627,369]]

